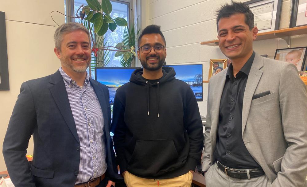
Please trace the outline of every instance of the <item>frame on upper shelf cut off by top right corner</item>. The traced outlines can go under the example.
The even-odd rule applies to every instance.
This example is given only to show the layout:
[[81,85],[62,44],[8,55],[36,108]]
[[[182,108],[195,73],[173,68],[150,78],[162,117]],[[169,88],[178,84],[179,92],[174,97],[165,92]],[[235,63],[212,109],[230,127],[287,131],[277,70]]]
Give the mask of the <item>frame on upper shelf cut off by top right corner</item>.
[[307,25],[307,0],[292,0],[290,28]]

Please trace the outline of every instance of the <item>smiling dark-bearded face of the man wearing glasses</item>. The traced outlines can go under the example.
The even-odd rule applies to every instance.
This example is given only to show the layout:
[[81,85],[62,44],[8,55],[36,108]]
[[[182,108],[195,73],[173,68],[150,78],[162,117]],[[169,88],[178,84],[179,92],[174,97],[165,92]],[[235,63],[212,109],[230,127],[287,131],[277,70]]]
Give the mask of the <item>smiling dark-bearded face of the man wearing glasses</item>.
[[161,69],[166,58],[166,49],[164,49],[162,53],[156,53],[153,49],[153,46],[155,45],[165,46],[165,42],[160,34],[153,33],[144,34],[142,36],[139,47],[152,47],[150,53],[148,54],[144,54],[141,48],[138,50],[138,59],[141,61],[143,68],[148,71],[156,71]]

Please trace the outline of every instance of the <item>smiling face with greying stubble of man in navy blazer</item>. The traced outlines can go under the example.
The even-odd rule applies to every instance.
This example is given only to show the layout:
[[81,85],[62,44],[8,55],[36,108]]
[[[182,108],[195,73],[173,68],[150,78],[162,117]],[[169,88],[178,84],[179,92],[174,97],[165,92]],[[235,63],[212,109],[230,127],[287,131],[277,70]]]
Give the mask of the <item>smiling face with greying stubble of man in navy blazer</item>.
[[54,48],[63,71],[68,75],[86,73],[91,62],[91,45],[87,33],[75,30],[63,36],[61,49]]

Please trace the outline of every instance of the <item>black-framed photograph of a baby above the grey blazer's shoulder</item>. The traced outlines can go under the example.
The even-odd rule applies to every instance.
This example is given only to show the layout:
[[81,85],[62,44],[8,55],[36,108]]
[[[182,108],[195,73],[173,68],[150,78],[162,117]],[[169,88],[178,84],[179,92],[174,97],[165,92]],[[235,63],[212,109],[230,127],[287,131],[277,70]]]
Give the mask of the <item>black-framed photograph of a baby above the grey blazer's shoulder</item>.
[[306,65],[307,47],[295,47],[276,49],[274,59],[289,62],[297,67],[297,71],[303,71]]

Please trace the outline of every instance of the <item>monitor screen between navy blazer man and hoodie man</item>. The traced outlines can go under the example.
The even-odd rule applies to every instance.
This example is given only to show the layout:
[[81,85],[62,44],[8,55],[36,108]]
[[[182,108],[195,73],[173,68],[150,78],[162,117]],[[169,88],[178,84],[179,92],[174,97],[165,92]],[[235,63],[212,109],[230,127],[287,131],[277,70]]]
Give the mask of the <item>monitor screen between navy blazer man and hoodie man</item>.
[[95,68],[95,80],[108,87],[111,105],[113,105],[117,88],[129,82],[135,69],[137,68]]

